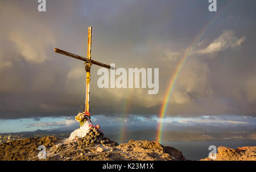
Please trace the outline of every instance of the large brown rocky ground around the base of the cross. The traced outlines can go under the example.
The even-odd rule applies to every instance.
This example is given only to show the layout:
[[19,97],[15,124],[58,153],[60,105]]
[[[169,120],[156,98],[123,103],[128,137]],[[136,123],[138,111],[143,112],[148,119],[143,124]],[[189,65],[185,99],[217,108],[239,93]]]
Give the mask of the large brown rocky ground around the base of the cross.
[[0,160],[39,160],[38,146],[46,146],[46,160],[186,160],[180,150],[163,146],[156,141],[130,140],[126,144],[104,137],[92,129],[86,137],[75,141],[60,140],[54,136],[27,138],[0,144]]

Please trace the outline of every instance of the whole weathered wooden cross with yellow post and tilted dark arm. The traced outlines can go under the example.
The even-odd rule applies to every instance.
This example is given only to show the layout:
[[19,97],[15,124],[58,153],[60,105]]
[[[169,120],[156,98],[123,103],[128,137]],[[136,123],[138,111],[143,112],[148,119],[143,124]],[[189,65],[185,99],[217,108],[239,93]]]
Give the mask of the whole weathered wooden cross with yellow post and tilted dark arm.
[[89,95],[90,95],[90,67],[92,64],[98,65],[108,69],[115,69],[110,65],[102,64],[101,62],[91,60],[91,51],[92,51],[92,27],[88,28],[88,45],[87,45],[87,57],[77,56],[69,52],[65,52],[61,49],[55,48],[56,53],[64,54],[69,57],[76,58],[78,60],[85,61],[85,71],[86,71],[86,94],[85,94],[85,112],[89,112]]

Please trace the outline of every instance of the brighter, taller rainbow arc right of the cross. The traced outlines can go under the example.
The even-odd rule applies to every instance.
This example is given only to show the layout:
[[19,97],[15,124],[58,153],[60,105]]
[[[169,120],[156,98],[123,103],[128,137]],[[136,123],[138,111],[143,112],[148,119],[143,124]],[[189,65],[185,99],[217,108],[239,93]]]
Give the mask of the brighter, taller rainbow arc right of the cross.
[[[226,8],[224,8],[224,9],[226,9]],[[223,11],[224,10],[222,10],[222,12]],[[172,95],[172,91],[174,90],[174,86],[175,86],[177,77],[179,76],[181,70],[183,69],[183,66],[184,66],[185,62],[187,61],[187,58],[193,53],[193,49],[195,49],[196,45],[203,38],[203,36],[205,35],[205,32],[207,32],[209,27],[212,26],[212,24],[214,22],[216,22],[216,20],[221,16],[222,12],[219,12],[212,20],[210,20],[210,22],[207,24],[207,26],[205,26],[203,28],[203,30],[201,30],[201,32],[195,37],[195,39],[192,41],[192,44],[189,46],[187,51],[185,51],[183,57],[181,58],[179,64],[177,65],[174,74],[172,74],[172,76],[170,78],[170,82],[168,83],[166,94],[164,96],[163,103],[162,103],[162,106],[160,108],[160,112],[159,112],[159,116],[158,116],[158,118],[160,120],[159,120],[158,126],[157,126],[157,132],[156,132],[156,138],[155,138],[156,141],[158,141],[158,142],[162,141],[163,118],[166,115],[168,102],[169,102],[170,97]]]

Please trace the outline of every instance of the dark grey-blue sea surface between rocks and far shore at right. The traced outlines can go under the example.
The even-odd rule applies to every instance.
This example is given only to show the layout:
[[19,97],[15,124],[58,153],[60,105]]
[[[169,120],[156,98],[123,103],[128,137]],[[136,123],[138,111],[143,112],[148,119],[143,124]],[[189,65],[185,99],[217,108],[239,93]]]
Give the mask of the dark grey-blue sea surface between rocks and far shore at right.
[[162,141],[161,144],[179,149],[187,160],[200,160],[208,157],[212,150],[208,150],[210,145],[236,149],[242,146],[256,146],[256,140]]

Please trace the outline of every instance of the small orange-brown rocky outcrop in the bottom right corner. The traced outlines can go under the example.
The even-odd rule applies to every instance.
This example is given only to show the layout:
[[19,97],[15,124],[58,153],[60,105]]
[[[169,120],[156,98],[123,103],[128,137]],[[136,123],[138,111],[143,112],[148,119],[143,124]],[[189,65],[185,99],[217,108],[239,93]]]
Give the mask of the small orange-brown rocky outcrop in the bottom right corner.
[[201,161],[256,161],[256,146],[238,147],[237,149],[220,146],[215,160],[208,157]]

